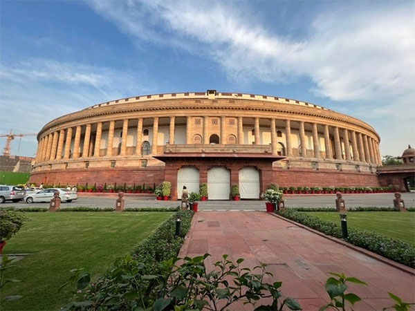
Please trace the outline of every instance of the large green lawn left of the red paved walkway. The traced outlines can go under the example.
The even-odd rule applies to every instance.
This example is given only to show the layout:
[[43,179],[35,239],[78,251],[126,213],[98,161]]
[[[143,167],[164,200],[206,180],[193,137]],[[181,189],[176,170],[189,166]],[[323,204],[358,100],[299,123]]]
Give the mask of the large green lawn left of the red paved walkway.
[[58,310],[70,298],[69,270],[84,267],[93,276],[102,274],[114,259],[127,254],[172,213],[65,212],[27,213],[31,219],[8,241],[3,254],[28,253],[8,270],[21,280],[6,285],[3,295],[24,297],[0,306],[1,310]]

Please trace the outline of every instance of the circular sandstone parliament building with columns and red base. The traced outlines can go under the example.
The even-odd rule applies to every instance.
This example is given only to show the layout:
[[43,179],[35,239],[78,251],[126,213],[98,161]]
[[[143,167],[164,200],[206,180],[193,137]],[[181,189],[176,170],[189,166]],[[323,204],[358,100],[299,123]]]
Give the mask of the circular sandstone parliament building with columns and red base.
[[210,200],[281,187],[377,187],[380,137],[316,104],[241,93],[129,97],[63,115],[37,135],[30,182],[183,185]]

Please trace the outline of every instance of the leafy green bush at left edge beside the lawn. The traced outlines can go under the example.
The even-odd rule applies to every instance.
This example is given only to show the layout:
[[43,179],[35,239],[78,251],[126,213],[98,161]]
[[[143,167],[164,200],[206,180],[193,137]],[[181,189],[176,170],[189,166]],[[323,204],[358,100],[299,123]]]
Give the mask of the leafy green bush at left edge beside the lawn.
[[0,254],[6,241],[17,234],[27,220],[21,211],[0,211]]

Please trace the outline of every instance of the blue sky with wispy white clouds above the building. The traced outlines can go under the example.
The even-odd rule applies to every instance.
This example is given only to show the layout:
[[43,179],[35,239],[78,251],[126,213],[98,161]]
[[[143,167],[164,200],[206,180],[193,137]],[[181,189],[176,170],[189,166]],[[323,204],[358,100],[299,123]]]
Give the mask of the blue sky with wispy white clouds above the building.
[[[0,133],[122,97],[218,91],[353,115],[415,145],[413,1],[0,1]],[[5,139],[0,140],[1,147]],[[33,137],[12,154],[33,156]]]

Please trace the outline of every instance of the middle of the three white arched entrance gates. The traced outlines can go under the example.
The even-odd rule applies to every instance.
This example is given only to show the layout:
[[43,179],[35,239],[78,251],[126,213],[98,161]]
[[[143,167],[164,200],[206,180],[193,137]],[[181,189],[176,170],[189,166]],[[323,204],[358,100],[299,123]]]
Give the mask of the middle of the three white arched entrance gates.
[[209,200],[229,200],[230,171],[224,167],[213,167],[208,171]]

